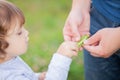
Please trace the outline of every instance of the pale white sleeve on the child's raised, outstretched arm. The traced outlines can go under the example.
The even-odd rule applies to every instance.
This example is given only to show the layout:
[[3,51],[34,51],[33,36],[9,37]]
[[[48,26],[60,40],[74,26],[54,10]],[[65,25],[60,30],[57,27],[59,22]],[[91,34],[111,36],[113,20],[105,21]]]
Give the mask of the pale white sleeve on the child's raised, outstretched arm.
[[45,80],[67,80],[71,58],[54,54],[49,64]]

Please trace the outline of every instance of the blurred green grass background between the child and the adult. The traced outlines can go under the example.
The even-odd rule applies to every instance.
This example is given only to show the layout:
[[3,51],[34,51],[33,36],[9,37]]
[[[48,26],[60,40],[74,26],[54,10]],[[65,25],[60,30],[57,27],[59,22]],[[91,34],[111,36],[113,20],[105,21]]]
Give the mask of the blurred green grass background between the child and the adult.
[[[71,8],[68,0],[8,0],[25,14],[28,51],[21,57],[36,72],[46,71],[52,54],[63,42],[62,29]],[[68,80],[84,80],[83,54],[73,59]],[[54,76],[54,75],[53,75]]]

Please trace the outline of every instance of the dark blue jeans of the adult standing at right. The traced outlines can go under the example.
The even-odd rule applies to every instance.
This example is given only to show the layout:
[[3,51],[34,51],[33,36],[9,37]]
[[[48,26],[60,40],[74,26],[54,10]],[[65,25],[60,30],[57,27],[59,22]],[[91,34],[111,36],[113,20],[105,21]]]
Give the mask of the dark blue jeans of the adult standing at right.
[[[93,0],[95,1],[95,0]],[[118,1],[118,0],[96,0],[101,3],[107,1]],[[103,5],[100,5],[104,7]],[[111,9],[112,11],[113,9]],[[109,11],[109,10],[108,10]],[[111,13],[112,14],[112,13]],[[119,18],[113,16],[105,15],[96,8],[92,6],[90,12],[90,33],[95,34],[98,30],[102,28],[114,28],[120,26]],[[118,14],[118,13],[116,13]],[[110,18],[109,18],[110,17]],[[115,21],[114,21],[115,19]],[[107,38],[107,36],[106,36]],[[93,57],[90,53],[84,50],[84,67],[85,67],[85,80],[120,80],[120,51],[117,51],[109,58],[98,58]]]

